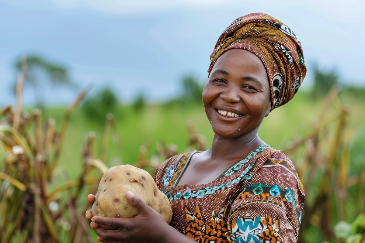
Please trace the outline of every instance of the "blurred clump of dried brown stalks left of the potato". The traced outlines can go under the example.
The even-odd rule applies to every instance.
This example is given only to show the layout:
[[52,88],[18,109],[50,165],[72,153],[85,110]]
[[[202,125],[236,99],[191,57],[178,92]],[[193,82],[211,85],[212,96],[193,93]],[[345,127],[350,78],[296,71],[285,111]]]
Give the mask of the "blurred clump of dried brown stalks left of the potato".
[[[89,133],[84,144],[83,168],[77,180],[68,180],[50,189],[57,174],[57,162],[62,151],[70,114],[84,98],[82,91],[68,107],[59,131],[55,120],[47,119],[42,126],[42,111],[31,114],[22,111],[22,87],[26,77],[26,58],[22,58],[22,73],[16,86],[17,106],[0,110],[0,140],[6,151],[0,172],[0,243],[92,242],[88,222],[81,208],[82,189],[92,191],[108,169],[104,164],[110,126],[108,115],[103,135],[101,160],[95,158],[95,133]],[[34,126],[34,133],[29,127]],[[44,128],[44,129],[42,129]],[[114,129],[115,130],[115,129]],[[114,137],[118,138],[116,134]],[[96,168],[96,169],[95,169]],[[82,212],[82,213],[81,213]]]

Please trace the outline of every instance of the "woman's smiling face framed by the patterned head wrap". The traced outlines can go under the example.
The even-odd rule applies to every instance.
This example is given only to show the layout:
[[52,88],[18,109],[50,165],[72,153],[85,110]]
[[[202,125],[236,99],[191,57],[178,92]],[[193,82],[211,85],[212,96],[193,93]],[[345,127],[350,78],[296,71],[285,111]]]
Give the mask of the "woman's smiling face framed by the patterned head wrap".
[[203,90],[214,133],[234,138],[258,129],[271,111],[264,64],[252,52],[234,48],[216,61]]

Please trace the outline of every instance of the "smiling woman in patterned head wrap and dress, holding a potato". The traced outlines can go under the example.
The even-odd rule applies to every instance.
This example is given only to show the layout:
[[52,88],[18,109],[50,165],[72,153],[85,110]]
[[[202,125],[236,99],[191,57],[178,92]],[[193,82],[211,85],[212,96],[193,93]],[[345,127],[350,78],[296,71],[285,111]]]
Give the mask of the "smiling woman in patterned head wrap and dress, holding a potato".
[[169,158],[155,174],[171,202],[170,225],[127,192],[141,215],[118,219],[87,212],[97,241],[296,242],[303,187],[292,162],[257,131],[270,111],[297,93],[306,75],[302,53],[291,29],[273,17],[236,19],[216,43],[203,90],[215,133],[211,149]]

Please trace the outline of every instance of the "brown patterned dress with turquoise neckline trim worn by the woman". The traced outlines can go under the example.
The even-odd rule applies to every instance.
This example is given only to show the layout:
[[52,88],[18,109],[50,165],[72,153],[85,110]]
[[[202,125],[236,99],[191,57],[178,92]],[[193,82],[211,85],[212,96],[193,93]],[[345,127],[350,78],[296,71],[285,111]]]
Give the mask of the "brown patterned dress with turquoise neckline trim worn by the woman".
[[297,242],[304,190],[282,151],[260,146],[208,184],[176,186],[194,153],[156,170],[171,202],[171,226],[202,243]]

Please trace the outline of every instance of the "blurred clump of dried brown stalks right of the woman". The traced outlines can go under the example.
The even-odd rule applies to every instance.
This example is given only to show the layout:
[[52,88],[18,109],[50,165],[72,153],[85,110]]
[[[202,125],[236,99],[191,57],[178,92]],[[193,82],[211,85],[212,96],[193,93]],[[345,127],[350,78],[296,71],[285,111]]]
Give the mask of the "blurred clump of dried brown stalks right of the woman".
[[324,240],[334,240],[335,222],[346,218],[349,188],[356,184],[360,189],[357,214],[364,210],[363,172],[349,177],[352,137],[349,119],[349,109],[342,105],[333,87],[312,131],[290,142],[285,150],[296,164],[306,192],[298,242],[306,242],[304,237],[310,224],[320,228]]

